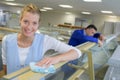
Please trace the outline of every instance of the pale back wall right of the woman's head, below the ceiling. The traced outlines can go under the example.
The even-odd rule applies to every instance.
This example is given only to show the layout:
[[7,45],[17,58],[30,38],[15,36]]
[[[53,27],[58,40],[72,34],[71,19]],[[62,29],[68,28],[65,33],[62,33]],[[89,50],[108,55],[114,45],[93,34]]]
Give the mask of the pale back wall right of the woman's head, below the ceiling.
[[[91,20],[92,23],[97,26],[99,32],[102,32],[105,21],[120,22],[120,17],[113,18],[105,15],[81,15],[78,13],[65,14],[62,12],[42,12],[40,26],[48,27],[49,25],[64,24],[65,22],[72,23],[72,25],[74,25],[76,17]],[[16,22],[11,23],[16,24]]]

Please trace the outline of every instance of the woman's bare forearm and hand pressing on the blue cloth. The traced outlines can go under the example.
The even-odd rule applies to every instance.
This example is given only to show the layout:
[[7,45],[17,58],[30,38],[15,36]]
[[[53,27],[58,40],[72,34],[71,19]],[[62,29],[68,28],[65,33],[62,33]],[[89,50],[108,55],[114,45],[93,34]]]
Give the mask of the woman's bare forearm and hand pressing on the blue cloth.
[[70,61],[77,59],[79,54],[77,53],[76,50],[71,49],[68,52],[65,52],[63,54],[59,54],[57,56],[52,56],[52,57],[46,57],[40,62],[37,63],[38,66],[50,66],[52,64],[56,64],[62,61]]

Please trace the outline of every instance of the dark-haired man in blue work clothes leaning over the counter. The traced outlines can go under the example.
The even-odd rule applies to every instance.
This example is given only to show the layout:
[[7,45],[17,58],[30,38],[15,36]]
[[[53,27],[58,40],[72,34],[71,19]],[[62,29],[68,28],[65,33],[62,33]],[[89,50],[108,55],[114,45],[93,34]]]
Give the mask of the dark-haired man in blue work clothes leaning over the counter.
[[[97,28],[93,24],[88,25],[85,29],[75,30],[71,35],[68,44],[71,46],[78,46],[80,44],[89,41],[89,42],[98,43],[99,46],[102,46],[105,37],[101,33],[96,33],[96,32],[97,32]],[[70,61],[68,63],[77,65],[78,59]],[[62,70],[65,74],[64,80],[67,80],[67,78],[70,77],[75,72],[75,69],[69,67],[68,63],[62,67]]]

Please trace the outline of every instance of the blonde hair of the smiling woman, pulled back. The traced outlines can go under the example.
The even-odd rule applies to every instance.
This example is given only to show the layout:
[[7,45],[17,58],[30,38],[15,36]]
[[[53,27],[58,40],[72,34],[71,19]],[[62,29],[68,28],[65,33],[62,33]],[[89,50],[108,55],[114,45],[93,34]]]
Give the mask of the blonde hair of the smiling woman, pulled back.
[[23,17],[23,15],[24,15],[25,12],[30,12],[30,13],[36,13],[36,14],[38,14],[39,15],[39,22],[40,22],[40,14],[41,14],[41,12],[40,12],[40,9],[36,5],[34,5],[34,4],[28,4],[28,5],[26,5],[23,8],[22,12],[21,12],[20,19],[22,19],[22,17]]

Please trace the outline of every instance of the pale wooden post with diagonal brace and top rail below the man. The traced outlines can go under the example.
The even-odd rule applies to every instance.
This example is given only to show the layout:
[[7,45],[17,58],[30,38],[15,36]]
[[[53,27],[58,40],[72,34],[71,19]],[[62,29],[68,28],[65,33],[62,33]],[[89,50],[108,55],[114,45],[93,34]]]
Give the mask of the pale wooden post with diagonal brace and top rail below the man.
[[91,47],[93,47],[95,43],[87,42],[85,44],[77,46],[83,53],[87,53],[88,55],[88,62],[86,62],[82,67],[84,69],[79,68],[68,80],[79,80],[80,75],[85,72],[85,69],[88,69],[89,78],[90,80],[94,79],[94,66],[92,61],[92,53],[88,51]]

